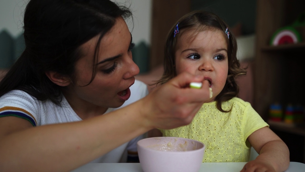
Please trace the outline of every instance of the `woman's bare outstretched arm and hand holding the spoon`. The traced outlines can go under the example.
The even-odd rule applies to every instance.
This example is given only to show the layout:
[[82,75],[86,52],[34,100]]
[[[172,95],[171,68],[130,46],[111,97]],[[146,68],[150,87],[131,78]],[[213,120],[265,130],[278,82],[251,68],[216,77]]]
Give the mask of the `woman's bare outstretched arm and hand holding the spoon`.
[[209,99],[185,88],[202,77],[182,74],[127,107],[81,122],[32,127],[27,120],[0,118],[1,171],[70,171],[153,128],[187,125]]

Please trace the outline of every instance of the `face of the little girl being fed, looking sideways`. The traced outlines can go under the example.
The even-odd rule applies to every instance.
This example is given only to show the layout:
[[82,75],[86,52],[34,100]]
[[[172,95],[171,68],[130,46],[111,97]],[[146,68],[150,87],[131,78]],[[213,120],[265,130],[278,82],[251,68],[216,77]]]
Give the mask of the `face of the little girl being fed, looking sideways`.
[[182,33],[176,44],[176,72],[203,75],[210,81],[213,91],[210,101],[213,101],[224,88],[228,76],[228,38],[218,29]]

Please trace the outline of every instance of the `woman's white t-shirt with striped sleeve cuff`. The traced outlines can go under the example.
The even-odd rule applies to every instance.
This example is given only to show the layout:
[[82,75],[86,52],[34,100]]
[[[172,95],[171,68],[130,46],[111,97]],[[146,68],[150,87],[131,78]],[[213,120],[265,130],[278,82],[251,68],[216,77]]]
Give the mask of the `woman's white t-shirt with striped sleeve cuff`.
[[[135,80],[135,84],[130,87],[130,91],[130,98],[119,108],[142,99],[148,94],[147,85],[139,80]],[[62,104],[60,107],[51,101],[41,102],[26,92],[13,90],[0,98],[0,117],[16,116],[24,118],[31,122],[33,126],[82,120],[65,98]],[[105,114],[119,108],[108,108]],[[125,163],[127,161],[127,150],[136,151],[136,143],[142,138],[144,138],[144,135],[122,144],[102,157],[95,159],[92,163]]]

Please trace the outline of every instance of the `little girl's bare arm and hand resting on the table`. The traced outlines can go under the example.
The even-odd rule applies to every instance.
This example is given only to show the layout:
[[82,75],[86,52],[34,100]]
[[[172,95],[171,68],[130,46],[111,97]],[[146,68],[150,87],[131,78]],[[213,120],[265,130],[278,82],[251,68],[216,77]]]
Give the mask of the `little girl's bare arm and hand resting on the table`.
[[253,132],[248,140],[260,154],[247,163],[241,172],[271,171],[282,172],[289,167],[289,149],[287,145],[268,127]]

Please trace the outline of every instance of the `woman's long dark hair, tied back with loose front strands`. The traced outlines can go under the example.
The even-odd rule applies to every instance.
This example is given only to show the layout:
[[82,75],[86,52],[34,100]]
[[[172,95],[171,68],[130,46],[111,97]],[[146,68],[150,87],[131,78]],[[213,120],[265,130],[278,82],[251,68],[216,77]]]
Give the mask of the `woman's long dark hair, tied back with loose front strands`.
[[[41,101],[60,105],[61,87],[45,74],[57,72],[75,80],[75,63],[80,46],[99,35],[100,40],[118,17],[132,18],[131,11],[110,0],[30,0],[24,13],[25,50],[0,82],[0,97],[22,90]],[[95,77],[95,65],[90,84]]]

